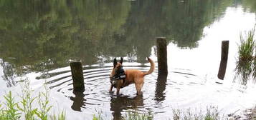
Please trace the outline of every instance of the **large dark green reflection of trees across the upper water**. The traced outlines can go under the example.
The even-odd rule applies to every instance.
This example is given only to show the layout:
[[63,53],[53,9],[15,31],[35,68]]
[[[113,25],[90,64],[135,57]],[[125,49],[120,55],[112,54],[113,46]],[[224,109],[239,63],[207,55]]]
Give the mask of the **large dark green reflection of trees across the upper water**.
[[204,27],[230,4],[231,0],[2,0],[0,58],[17,70],[29,66],[29,71],[57,69],[70,59],[84,65],[111,56],[143,62],[157,36],[182,48],[196,47]]

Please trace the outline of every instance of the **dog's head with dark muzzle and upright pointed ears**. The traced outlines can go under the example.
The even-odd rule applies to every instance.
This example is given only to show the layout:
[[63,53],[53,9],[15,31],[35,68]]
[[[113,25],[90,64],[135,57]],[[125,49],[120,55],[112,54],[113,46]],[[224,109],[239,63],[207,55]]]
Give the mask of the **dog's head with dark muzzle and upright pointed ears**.
[[120,73],[124,72],[122,64],[123,64],[123,58],[122,57],[121,57],[119,62],[116,59],[114,59],[114,61],[113,61],[113,70],[110,74],[110,77],[118,76]]

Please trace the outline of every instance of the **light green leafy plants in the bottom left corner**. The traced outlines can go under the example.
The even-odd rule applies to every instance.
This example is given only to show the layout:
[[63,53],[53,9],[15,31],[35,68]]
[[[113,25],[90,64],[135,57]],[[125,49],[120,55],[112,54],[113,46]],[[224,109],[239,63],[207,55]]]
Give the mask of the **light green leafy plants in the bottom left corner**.
[[[33,97],[29,83],[25,82],[19,97],[22,100],[16,101],[11,91],[4,96],[4,104],[0,103],[1,120],[65,120],[63,111],[57,115],[49,114],[52,106],[49,105],[47,91]],[[39,107],[34,107],[34,104],[38,104]]]

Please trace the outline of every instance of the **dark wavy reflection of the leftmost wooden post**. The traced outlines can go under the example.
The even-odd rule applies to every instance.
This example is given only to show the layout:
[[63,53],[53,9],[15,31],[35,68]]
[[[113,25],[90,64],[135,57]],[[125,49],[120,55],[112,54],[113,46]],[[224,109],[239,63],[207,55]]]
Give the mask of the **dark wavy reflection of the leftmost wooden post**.
[[73,91],[73,94],[75,94],[75,97],[70,97],[70,99],[73,102],[71,108],[74,110],[74,111],[81,111],[81,108],[85,108],[85,101],[86,99],[84,98],[85,97],[85,94],[83,93],[84,91]]

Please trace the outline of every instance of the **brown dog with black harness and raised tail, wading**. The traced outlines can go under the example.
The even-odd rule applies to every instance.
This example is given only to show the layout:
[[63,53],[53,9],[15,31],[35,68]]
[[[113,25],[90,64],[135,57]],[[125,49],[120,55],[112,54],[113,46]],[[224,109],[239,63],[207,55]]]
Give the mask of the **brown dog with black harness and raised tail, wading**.
[[[148,61],[150,62],[151,67],[146,72],[139,71],[138,69],[127,69],[124,71],[122,66],[123,58],[121,58],[120,62],[117,62],[116,59],[114,59],[114,67],[110,74],[111,86],[109,91],[112,91],[113,87],[115,87],[116,94],[118,95],[121,88],[134,83],[136,86],[137,94],[141,95],[141,88],[144,84],[144,76],[151,74],[155,69],[154,62],[149,58]],[[120,77],[120,75],[124,77]],[[115,80],[113,80],[113,78],[115,78]]]

